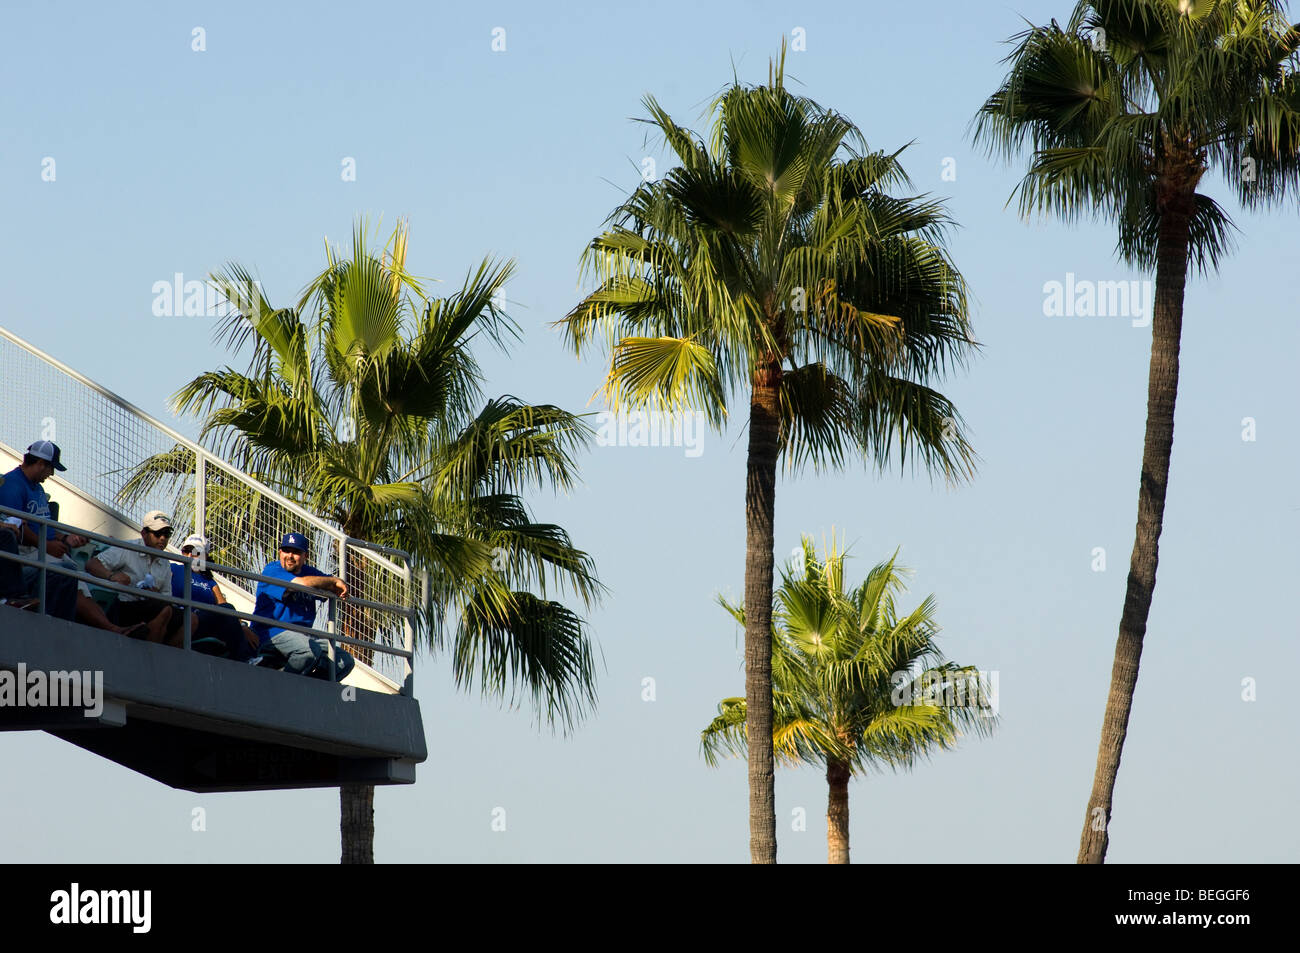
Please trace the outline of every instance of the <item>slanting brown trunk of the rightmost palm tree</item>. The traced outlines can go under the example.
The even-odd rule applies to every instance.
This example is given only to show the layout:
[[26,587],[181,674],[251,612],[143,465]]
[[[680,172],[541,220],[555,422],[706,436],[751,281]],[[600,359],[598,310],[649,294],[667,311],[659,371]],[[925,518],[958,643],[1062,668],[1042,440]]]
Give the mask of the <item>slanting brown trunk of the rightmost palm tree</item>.
[[1178,397],[1178,350],[1183,334],[1183,289],[1187,285],[1187,244],[1195,202],[1191,189],[1161,196],[1156,261],[1156,302],[1152,320],[1150,371],[1147,381],[1147,436],[1143,442],[1141,486],[1138,493],[1138,533],[1128,563],[1128,589],[1119,619],[1110,696],[1101,723],[1097,771],[1084,814],[1078,863],[1104,863],[1110,844],[1110,806],[1119,774],[1119,755],[1128,732],[1138,663],[1147,634],[1150,597],[1156,589],[1160,530],[1165,520],[1169,458],[1174,447],[1174,400]]

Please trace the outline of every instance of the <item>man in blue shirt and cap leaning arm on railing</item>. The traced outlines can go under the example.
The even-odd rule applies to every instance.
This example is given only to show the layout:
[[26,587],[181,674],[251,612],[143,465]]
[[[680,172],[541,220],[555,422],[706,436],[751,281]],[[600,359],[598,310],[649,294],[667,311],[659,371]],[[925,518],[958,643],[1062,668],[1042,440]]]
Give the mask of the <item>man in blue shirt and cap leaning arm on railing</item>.
[[[307,537],[302,533],[290,533],[281,540],[280,559],[268,563],[261,573],[312,589],[338,593],[341,599],[347,598],[347,584],[343,580],[338,576],[326,576],[315,566],[307,564]],[[299,589],[286,589],[273,582],[259,582],[257,601],[252,611],[254,615],[312,627],[316,624],[316,603],[321,598],[324,597],[312,595]],[[292,629],[277,629],[263,621],[252,623],[251,628],[257,633],[263,645],[270,642],[285,657],[286,672],[329,676],[329,642],[324,638],[312,638]],[[335,681],[347,677],[354,664],[356,662],[343,651],[342,646],[334,647]]]

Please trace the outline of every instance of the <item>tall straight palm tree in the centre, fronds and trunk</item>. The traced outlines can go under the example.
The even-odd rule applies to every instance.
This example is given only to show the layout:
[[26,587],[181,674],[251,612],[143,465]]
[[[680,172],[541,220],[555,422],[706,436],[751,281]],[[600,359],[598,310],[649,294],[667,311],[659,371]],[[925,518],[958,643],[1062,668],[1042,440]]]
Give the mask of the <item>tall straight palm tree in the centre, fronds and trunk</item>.
[[844,116],[785,88],[723,91],[708,142],[653,96],[649,122],[679,166],[642,182],[584,254],[597,289],[560,322],[577,354],[611,350],[620,408],[707,415],[736,390],[749,412],[745,697],[750,857],[776,861],[771,605],[776,464],[880,467],[909,455],[956,478],[972,451],[927,381],[963,360],[966,287],[939,202],[894,196],[898,153],[870,152]]

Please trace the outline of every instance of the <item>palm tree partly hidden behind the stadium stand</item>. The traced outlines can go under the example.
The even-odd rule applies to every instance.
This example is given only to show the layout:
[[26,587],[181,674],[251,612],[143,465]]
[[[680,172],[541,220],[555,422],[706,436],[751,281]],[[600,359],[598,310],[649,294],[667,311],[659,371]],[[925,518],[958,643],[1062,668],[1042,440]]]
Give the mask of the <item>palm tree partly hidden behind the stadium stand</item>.
[[[594,655],[582,619],[547,594],[586,608],[602,586],[588,554],[534,521],[519,494],[569,489],[590,432],[558,407],[484,400],[469,345],[504,346],[516,332],[499,298],[512,263],[485,260],[458,291],[430,298],[406,251],[404,225],[376,254],[359,224],[351,257],[326,244],[325,269],[285,308],[240,265],[213,274],[242,303],[225,341],[251,345],[252,363],[200,374],[173,403],[272,489],[350,537],[410,553],[430,580],[421,641],[442,647],[450,633],[458,685],[528,697],[541,719],[571,727],[595,702]],[[176,462],[151,465],[162,478]],[[354,592],[372,585],[356,560],[348,573]],[[368,633],[344,620],[344,634]],[[373,787],[343,785],[339,797],[343,862],[373,862]]]

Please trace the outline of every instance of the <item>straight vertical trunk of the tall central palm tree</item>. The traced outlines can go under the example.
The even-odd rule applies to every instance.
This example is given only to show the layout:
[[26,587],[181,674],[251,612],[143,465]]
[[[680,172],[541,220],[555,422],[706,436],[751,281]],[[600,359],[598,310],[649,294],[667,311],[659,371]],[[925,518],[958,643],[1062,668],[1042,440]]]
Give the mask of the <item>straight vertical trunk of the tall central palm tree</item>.
[[745,473],[745,733],[749,744],[749,857],[776,863],[772,763],[772,562],[780,364],[754,376]]

